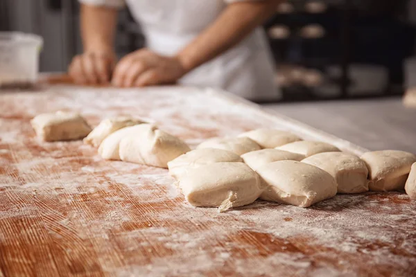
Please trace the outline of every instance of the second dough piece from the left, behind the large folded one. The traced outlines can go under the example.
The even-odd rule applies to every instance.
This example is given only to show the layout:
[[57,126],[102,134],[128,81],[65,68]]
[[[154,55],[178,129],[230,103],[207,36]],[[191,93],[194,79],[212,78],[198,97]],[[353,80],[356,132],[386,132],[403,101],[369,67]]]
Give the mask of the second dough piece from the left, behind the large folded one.
[[132,118],[130,116],[117,116],[114,118],[106,118],[95,127],[91,133],[84,139],[84,143],[98,147],[103,140],[116,130],[145,123],[143,120]]

